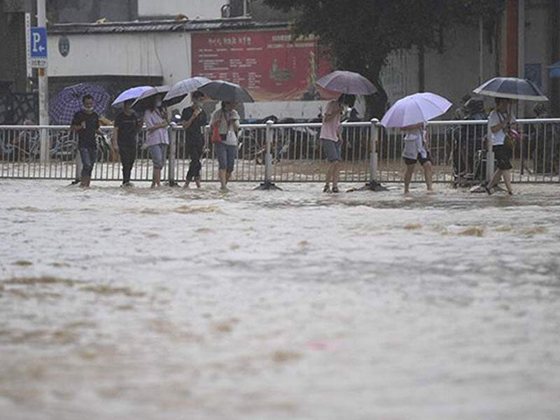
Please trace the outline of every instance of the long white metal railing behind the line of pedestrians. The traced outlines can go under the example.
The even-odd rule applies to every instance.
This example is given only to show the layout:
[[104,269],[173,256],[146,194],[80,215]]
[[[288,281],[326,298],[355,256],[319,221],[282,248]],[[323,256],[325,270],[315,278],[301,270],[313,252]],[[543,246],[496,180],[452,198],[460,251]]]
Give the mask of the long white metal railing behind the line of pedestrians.
[[[560,119],[518,120],[522,140],[514,149],[514,182],[560,182]],[[377,120],[344,123],[340,180],[344,183],[401,182],[402,133],[386,130]],[[170,129],[171,145],[164,178],[171,183],[186,178],[190,159],[185,132]],[[325,162],[320,123],[241,125],[239,152],[232,181],[258,183],[323,182]],[[102,127],[111,137],[112,127]],[[434,181],[456,186],[474,185],[492,172],[487,159],[486,120],[432,121],[428,123],[429,150]],[[203,181],[218,181],[218,163],[209,142],[202,155]],[[144,132],[137,137],[137,160],[133,181],[149,181],[151,160]],[[43,155],[41,155],[41,151]],[[99,141],[92,178],[122,179],[118,153]],[[76,138],[67,126],[0,126],[0,178],[76,179],[80,160]],[[421,181],[421,170],[413,181]]]

